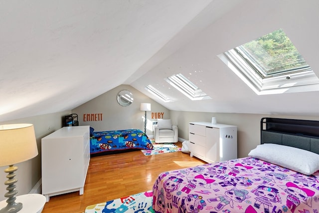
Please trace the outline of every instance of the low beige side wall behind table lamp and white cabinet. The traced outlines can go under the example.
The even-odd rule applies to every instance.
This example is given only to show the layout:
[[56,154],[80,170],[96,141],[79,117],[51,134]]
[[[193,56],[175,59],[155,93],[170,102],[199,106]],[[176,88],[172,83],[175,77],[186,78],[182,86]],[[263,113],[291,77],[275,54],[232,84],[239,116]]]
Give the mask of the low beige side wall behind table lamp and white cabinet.
[[[16,189],[18,191],[17,195],[24,195],[29,193],[32,187],[41,178],[41,138],[60,129],[62,127],[62,117],[70,113],[71,111],[64,111],[59,113],[10,120],[0,123],[0,125],[30,123],[34,126],[36,143],[39,154],[31,160],[15,165],[18,167],[18,170],[15,172],[15,178],[18,180],[18,182],[15,184]],[[14,148],[12,149],[12,152],[14,152]],[[5,168],[6,167],[0,167],[0,201],[6,199],[4,197],[4,194],[7,192],[5,189],[6,186],[4,185],[4,181],[7,180],[7,178],[5,177],[7,173],[4,173]]]

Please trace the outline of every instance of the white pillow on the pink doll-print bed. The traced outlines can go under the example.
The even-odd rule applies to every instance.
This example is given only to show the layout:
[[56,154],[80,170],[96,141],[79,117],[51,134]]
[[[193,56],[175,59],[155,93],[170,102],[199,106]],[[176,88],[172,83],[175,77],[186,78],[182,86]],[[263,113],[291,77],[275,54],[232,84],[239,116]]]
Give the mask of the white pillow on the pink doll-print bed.
[[251,150],[248,156],[281,167],[312,175],[319,170],[319,155],[307,150],[278,144],[262,144]]

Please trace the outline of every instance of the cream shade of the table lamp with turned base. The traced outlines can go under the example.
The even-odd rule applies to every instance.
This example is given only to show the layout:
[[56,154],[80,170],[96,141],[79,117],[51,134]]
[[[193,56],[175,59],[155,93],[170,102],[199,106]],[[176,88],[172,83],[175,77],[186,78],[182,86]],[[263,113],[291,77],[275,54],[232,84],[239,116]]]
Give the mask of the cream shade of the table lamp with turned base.
[[0,125],[0,167],[17,164],[37,155],[32,124]]

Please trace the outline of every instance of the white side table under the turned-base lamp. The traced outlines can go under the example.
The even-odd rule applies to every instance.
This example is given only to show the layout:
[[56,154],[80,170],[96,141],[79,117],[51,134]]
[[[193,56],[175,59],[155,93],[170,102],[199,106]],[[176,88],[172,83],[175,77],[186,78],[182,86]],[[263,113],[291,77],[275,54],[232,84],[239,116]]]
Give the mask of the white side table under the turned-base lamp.
[[[26,194],[15,197],[15,203],[22,203],[22,210],[18,213],[41,213],[46,202],[43,195],[40,194]],[[6,199],[0,202],[0,209],[7,205]]]

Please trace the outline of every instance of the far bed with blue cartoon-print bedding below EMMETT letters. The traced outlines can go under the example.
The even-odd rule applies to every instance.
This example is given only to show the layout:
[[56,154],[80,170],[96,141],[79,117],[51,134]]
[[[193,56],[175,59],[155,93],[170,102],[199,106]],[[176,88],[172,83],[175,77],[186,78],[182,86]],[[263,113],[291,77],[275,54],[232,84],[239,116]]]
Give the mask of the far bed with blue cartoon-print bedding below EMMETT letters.
[[113,154],[132,150],[153,150],[149,137],[139,129],[90,132],[91,155]]

